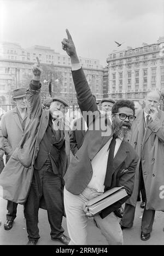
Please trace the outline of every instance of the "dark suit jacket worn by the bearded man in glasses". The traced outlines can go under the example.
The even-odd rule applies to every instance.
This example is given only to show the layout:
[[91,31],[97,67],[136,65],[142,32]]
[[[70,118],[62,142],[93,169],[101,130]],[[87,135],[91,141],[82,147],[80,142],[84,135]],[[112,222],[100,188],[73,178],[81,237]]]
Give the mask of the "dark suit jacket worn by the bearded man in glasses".
[[[89,184],[92,178],[92,159],[107,143],[110,137],[113,136],[113,130],[110,120],[106,115],[98,111],[83,69],[73,71],[72,74],[79,107],[87,122],[88,130],[85,133],[83,144],[69,164],[64,178],[66,189],[72,194],[79,195],[87,187],[87,184]],[[97,129],[99,124],[101,125]],[[124,185],[128,196],[130,196],[133,191],[137,161],[138,155],[136,151],[128,142],[122,142],[114,158],[112,185],[110,187],[107,185],[105,189]],[[120,200],[115,205],[112,205],[112,207],[103,210],[101,217],[106,217],[110,212],[119,208],[126,200],[127,198]]]

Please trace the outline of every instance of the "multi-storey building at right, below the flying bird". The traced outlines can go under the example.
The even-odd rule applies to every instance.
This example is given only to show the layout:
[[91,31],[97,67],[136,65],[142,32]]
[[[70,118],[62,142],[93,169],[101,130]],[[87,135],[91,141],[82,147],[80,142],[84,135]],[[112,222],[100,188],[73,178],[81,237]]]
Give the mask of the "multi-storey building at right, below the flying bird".
[[143,99],[151,89],[164,89],[164,37],[155,44],[113,51],[107,58],[108,95],[114,99]]

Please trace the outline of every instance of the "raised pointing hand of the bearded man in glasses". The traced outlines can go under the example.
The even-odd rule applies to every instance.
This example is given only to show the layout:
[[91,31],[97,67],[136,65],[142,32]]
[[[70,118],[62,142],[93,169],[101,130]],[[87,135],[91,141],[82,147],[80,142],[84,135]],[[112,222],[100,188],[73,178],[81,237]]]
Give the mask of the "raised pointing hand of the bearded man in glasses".
[[71,56],[77,56],[76,53],[76,49],[75,49],[75,45],[73,43],[71,34],[69,33],[69,31],[66,29],[66,33],[67,33],[67,39],[64,38],[62,40],[62,48],[63,50],[66,51],[66,53],[71,57]]

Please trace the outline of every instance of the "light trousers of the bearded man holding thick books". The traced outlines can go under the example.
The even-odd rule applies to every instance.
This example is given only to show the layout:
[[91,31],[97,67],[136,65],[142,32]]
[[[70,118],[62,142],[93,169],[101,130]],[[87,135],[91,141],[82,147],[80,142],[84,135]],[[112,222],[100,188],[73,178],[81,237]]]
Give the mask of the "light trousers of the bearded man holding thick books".
[[[69,245],[87,245],[87,219],[84,212],[84,203],[97,196],[96,191],[86,188],[83,193],[74,195],[64,189],[65,212],[67,229],[71,241]],[[106,218],[96,214],[93,219],[102,235],[106,237],[108,245],[123,245],[123,235],[119,218],[112,212]],[[93,234],[94,235],[94,234]]]

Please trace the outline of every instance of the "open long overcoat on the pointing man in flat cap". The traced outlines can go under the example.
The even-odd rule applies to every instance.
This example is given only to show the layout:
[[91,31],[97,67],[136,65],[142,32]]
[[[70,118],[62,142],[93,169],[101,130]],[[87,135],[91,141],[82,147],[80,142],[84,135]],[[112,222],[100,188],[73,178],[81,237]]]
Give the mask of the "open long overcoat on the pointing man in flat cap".
[[[31,86],[32,84],[27,90],[30,126],[0,175],[3,193],[1,196],[6,200],[21,204],[26,202],[31,187],[34,161],[37,158],[39,144],[48,127],[50,115],[49,110],[42,108],[39,95],[41,84],[37,90],[33,90]],[[59,172],[61,178],[63,178],[69,165],[69,127],[65,124],[65,120],[63,120],[63,127],[65,143],[60,150]]]

